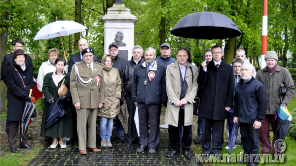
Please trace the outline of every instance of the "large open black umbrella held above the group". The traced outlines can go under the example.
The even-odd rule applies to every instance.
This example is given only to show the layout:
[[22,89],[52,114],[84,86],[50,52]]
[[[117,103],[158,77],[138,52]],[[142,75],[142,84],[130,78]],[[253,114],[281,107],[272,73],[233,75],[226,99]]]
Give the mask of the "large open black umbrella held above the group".
[[[217,12],[195,12],[186,15],[174,26],[171,34],[195,39],[225,39],[242,34],[227,16]],[[206,51],[206,41],[205,41]]]

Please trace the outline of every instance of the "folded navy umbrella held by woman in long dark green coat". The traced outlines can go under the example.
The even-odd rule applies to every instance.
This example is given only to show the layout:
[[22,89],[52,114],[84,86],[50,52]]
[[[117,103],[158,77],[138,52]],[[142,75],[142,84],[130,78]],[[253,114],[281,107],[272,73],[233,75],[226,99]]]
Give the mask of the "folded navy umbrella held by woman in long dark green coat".
[[65,115],[67,115],[62,104],[58,105],[57,102],[51,102],[46,115],[45,130],[57,123]]

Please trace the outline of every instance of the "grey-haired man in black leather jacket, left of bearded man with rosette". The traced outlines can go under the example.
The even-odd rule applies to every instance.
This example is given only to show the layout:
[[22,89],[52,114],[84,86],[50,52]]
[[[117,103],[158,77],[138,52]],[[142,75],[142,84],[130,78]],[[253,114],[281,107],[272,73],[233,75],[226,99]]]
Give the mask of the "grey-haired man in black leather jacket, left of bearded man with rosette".
[[132,99],[132,87],[133,87],[133,76],[134,76],[134,69],[137,65],[142,65],[145,61],[143,56],[143,48],[140,45],[134,46],[132,49],[133,56],[132,59],[126,62],[121,70],[121,85],[122,85],[122,92],[121,92],[121,100],[123,103],[127,103],[129,118],[128,118],[128,133],[127,133],[127,147],[131,147],[133,145],[133,141],[136,139],[136,124],[134,121],[134,116],[136,112],[136,106]]

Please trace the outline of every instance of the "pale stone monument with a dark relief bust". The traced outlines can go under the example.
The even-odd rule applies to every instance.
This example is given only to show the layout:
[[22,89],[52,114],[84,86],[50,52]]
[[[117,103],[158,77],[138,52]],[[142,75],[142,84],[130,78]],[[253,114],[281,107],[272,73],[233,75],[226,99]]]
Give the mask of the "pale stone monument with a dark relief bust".
[[126,61],[133,56],[134,28],[138,21],[130,11],[121,0],[116,0],[107,14],[101,18],[101,22],[104,23],[104,53],[109,54],[109,45],[116,43],[119,49],[118,56]]

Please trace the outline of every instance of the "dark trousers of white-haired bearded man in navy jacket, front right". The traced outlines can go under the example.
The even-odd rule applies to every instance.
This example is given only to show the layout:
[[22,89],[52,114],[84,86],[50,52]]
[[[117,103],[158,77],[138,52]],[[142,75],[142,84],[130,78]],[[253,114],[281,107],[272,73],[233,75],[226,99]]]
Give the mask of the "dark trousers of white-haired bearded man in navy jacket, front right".
[[[254,129],[253,124],[240,123],[241,140],[245,154],[259,154],[259,129]],[[255,156],[250,156],[250,161],[255,160]]]

